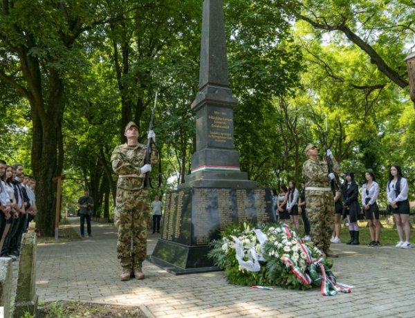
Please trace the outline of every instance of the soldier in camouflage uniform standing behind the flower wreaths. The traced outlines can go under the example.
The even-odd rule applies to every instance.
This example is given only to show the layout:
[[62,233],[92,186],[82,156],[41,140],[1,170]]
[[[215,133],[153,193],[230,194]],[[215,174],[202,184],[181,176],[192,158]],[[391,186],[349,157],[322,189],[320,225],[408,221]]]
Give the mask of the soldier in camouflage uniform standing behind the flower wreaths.
[[[340,174],[340,166],[333,157],[330,149],[327,156],[333,162],[333,171]],[[304,162],[302,169],[303,180],[306,184],[307,213],[310,220],[311,239],[328,257],[337,257],[330,250],[331,230],[333,230],[334,197],[331,191],[331,180],[335,178],[329,174],[327,162],[318,160],[318,149],[313,144],[306,147],[308,160]]]

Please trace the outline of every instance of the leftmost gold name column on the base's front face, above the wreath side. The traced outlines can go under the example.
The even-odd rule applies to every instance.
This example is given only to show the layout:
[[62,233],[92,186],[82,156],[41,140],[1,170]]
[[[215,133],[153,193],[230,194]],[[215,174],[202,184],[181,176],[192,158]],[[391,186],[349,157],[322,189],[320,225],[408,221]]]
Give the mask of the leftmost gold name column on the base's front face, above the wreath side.
[[196,218],[194,218],[196,236],[196,245],[206,245],[209,243],[209,227],[208,227],[208,202],[210,200],[210,189],[195,189],[194,203]]

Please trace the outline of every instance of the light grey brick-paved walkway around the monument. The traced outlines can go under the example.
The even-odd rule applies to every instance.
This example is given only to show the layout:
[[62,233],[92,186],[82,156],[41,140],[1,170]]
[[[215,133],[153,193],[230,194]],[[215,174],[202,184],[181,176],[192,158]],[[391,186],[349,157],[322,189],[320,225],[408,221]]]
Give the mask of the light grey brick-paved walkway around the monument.
[[[77,219],[75,219],[77,220]],[[78,223],[73,223],[78,230]],[[148,253],[159,234],[148,236]],[[39,301],[59,299],[140,306],[149,317],[415,317],[415,248],[335,245],[333,272],[355,286],[322,297],[319,288],[257,290],[226,283],[223,272],[175,276],[145,261],[146,279],[119,279],[116,228],[93,223],[93,238],[38,245]],[[15,262],[17,263],[17,262]]]

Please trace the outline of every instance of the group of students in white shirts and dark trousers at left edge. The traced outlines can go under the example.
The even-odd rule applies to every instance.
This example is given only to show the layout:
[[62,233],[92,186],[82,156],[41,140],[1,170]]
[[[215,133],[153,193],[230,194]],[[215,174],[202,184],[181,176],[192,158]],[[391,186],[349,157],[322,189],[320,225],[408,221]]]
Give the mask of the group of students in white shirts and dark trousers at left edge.
[[22,235],[37,214],[35,185],[22,165],[0,160],[0,256],[19,257]]

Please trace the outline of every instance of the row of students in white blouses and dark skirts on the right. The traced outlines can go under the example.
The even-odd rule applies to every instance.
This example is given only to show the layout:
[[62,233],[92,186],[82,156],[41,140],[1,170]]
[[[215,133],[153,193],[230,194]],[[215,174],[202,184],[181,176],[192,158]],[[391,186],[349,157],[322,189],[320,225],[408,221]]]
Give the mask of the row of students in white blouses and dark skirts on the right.
[[[359,201],[359,187],[355,181],[353,172],[349,171],[344,176],[345,180],[341,187],[333,185],[334,195],[334,225],[331,243],[341,243],[340,231],[342,219],[347,219],[349,225],[350,240],[346,244],[359,245],[359,226],[358,220],[366,219],[371,236],[369,247],[380,246],[380,221],[378,196],[380,186],[372,171],[365,172],[365,183],[361,189],[361,200]],[[299,214],[304,223],[304,241],[310,241],[310,223],[306,213],[306,198],[304,183],[301,184],[302,190],[295,187],[295,181],[291,180],[286,185],[279,187],[279,193],[273,189],[273,206],[277,215],[277,222],[291,220],[294,229],[299,232]],[[396,230],[399,241],[396,248],[412,247],[410,238],[409,224],[409,185],[407,179],[402,175],[402,169],[398,165],[391,165],[389,179],[386,185],[387,210],[394,215]]]

